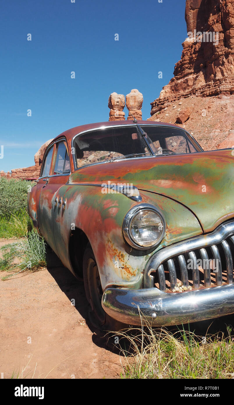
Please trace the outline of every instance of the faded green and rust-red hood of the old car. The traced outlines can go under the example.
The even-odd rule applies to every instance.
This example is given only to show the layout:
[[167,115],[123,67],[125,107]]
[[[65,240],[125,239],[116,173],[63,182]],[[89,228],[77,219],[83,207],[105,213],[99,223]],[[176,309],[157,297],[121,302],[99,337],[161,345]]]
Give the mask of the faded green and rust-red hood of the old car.
[[196,215],[204,232],[234,217],[232,149],[128,159],[86,166],[70,183],[128,183],[172,198]]

